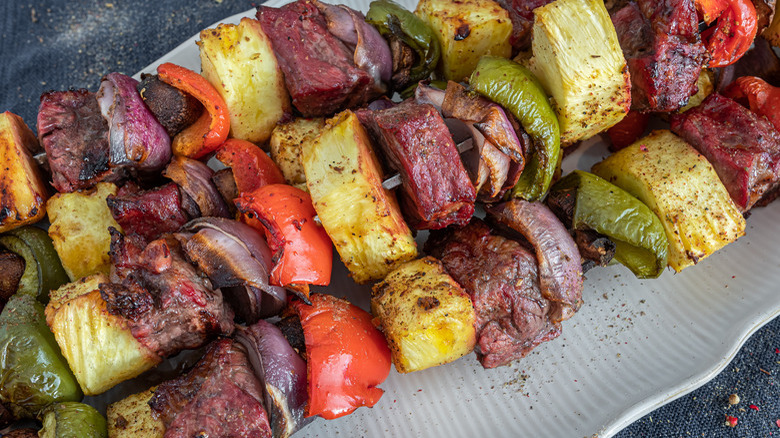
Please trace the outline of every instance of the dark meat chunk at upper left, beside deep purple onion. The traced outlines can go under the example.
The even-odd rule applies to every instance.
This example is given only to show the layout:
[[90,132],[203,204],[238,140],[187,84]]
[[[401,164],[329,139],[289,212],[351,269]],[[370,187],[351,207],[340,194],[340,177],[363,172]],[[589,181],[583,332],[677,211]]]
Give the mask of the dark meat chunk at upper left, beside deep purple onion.
[[125,177],[123,170],[108,165],[108,124],[94,93],[84,89],[43,93],[38,138],[46,150],[52,185],[59,192]]

